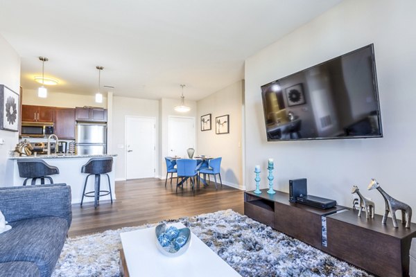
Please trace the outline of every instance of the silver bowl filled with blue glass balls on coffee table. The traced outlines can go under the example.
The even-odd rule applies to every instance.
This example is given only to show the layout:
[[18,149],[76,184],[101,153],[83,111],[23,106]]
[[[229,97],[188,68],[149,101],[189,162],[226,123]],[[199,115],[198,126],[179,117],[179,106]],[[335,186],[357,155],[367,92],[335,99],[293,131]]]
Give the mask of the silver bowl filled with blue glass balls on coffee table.
[[159,224],[156,226],[155,235],[157,249],[169,257],[182,255],[191,244],[189,228],[177,229],[175,226]]

